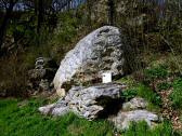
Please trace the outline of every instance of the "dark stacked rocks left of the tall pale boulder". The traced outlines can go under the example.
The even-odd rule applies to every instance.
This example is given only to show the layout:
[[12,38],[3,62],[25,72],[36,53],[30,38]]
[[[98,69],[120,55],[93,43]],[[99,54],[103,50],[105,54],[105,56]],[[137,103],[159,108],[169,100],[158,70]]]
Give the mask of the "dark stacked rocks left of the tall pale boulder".
[[29,90],[31,92],[50,91],[56,67],[56,63],[51,58],[38,57],[35,63],[35,69],[28,71]]

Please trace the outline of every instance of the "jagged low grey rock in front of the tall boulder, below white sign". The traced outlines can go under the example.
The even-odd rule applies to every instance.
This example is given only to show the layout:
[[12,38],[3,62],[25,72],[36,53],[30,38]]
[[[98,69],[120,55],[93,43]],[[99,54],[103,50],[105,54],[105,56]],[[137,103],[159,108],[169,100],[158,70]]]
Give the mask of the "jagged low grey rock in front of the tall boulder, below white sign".
[[100,84],[90,87],[73,87],[67,95],[56,104],[40,107],[44,114],[63,115],[73,111],[89,120],[95,119],[104,108],[120,97],[122,85]]

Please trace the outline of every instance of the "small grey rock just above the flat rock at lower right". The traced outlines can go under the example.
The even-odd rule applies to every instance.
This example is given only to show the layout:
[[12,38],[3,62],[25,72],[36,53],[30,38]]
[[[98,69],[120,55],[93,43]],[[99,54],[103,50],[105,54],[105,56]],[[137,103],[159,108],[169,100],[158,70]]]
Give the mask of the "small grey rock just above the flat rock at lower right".
[[134,97],[130,101],[122,104],[122,110],[145,109],[148,103],[141,97]]

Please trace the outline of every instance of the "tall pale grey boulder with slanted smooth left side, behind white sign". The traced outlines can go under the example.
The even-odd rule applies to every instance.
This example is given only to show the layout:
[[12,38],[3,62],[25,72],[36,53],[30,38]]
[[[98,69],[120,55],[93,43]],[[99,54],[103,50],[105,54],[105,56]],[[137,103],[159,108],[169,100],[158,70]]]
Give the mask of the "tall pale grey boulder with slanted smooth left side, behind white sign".
[[54,78],[54,87],[66,89],[72,84],[94,82],[101,79],[103,71],[113,76],[125,73],[125,49],[118,28],[104,26],[80,40],[76,47],[67,53]]

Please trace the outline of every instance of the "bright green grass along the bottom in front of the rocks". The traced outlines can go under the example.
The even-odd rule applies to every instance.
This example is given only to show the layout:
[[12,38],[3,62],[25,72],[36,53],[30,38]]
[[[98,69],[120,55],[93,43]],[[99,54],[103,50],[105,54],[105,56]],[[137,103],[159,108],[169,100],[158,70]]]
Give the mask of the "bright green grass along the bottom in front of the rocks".
[[[0,99],[0,136],[113,136],[114,126],[107,121],[88,121],[74,113],[64,117],[42,115],[38,107],[43,99]],[[155,130],[146,123],[134,123],[123,136],[177,136],[169,123]]]

